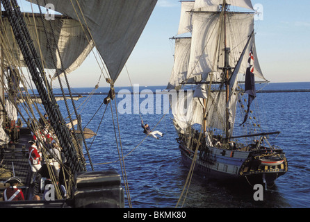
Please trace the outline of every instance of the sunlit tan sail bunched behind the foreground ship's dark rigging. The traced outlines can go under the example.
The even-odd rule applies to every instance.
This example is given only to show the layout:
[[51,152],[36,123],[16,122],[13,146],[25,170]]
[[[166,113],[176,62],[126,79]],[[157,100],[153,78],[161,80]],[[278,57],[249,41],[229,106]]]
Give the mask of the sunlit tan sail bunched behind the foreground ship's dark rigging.
[[[77,69],[94,47],[90,35],[87,31],[85,34],[79,22],[74,19],[56,17],[51,21],[52,27],[47,21],[44,21],[43,24],[41,17],[38,16],[32,17],[32,15],[28,15],[24,17],[24,19],[31,38],[33,39],[35,49],[40,53],[42,58],[44,69],[58,69],[58,75],[63,74],[63,72],[69,74]],[[24,58],[15,37],[13,37],[10,24],[6,17],[3,18],[3,26],[6,30],[6,35],[8,35],[7,40],[9,44],[7,46],[10,46],[10,48],[3,50],[12,52],[15,59],[20,62],[18,65],[20,67],[26,67]],[[45,35],[44,26],[47,30],[47,36]],[[54,36],[56,38],[54,38]],[[47,42],[47,37],[49,38],[50,46]],[[53,55],[56,60],[56,67],[51,55]],[[63,62],[63,67],[61,62]]]

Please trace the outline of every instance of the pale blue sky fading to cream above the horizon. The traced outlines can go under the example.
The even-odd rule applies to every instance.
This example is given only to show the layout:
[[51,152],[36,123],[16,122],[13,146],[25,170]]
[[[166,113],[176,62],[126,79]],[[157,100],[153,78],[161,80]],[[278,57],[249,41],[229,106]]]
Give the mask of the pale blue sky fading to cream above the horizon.
[[[24,0],[19,2],[26,8]],[[263,20],[255,23],[256,50],[263,75],[270,83],[310,82],[309,0],[252,0],[263,6]],[[115,86],[167,85],[173,66],[181,4],[158,0],[145,30]],[[68,75],[71,87],[95,87],[100,70],[94,56]],[[108,86],[105,80],[99,87]]]

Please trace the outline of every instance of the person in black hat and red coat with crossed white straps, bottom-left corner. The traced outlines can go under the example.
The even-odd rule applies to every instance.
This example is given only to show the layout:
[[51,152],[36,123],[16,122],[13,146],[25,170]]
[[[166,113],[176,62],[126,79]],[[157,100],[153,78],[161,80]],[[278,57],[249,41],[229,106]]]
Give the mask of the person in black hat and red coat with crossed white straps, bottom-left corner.
[[8,187],[7,189],[3,191],[4,201],[24,200],[24,194],[23,194],[22,189],[17,188],[17,184],[19,184],[20,182],[22,182],[22,180],[20,180],[17,177],[12,177],[6,180],[5,183],[9,183],[10,187]]

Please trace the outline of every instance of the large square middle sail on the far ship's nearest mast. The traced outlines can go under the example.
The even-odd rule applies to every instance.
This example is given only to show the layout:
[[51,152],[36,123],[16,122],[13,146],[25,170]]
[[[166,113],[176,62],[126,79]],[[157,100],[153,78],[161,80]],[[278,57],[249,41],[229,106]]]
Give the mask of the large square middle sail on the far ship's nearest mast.
[[[227,14],[227,47],[230,49],[229,64],[235,67],[248,37],[254,29],[254,15],[247,13]],[[195,75],[220,73],[224,67],[224,33],[220,13],[195,13],[193,16],[193,34],[188,65],[188,77]],[[204,31],[202,31],[204,30]],[[247,63],[240,67],[245,73]],[[256,76],[263,78],[259,62],[255,63]]]

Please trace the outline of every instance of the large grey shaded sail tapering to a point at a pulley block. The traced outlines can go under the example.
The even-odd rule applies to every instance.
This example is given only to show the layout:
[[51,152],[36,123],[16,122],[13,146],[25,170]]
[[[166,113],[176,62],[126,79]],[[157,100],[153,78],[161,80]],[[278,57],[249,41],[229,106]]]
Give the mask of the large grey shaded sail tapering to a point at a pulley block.
[[[38,2],[45,6],[44,0]],[[49,0],[48,3],[57,12],[89,28],[114,83],[138,42],[156,0]]]

